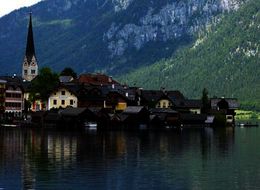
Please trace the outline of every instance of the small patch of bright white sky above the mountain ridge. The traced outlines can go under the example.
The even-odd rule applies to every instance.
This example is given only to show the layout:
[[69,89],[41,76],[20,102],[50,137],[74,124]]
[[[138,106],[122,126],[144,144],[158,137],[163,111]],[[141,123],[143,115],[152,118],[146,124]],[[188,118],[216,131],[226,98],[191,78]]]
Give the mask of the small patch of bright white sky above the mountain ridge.
[[15,9],[31,6],[41,0],[0,0],[0,17]]

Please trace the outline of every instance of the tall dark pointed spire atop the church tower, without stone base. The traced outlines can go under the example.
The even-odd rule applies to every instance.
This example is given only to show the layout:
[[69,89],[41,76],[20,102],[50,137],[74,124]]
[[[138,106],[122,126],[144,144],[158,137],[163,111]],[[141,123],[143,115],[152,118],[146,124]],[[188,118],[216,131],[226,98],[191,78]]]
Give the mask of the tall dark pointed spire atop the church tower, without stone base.
[[33,56],[35,56],[35,49],[34,49],[33,29],[32,29],[32,12],[30,12],[30,21],[29,21],[27,45],[26,45],[26,57],[28,60],[31,60]]

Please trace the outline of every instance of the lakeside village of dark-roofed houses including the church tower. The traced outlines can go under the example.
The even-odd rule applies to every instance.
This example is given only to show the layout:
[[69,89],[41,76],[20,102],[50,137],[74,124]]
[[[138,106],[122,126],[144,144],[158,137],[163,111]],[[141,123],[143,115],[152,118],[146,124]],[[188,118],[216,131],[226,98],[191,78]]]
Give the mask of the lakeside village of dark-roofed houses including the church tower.
[[171,129],[234,126],[234,98],[189,99],[178,90],[146,90],[120,84],[103,73],[59,75],[58,84],[44,99],[30,99],[39,74],[30,14],[22,76],[0,76],[2,126]]

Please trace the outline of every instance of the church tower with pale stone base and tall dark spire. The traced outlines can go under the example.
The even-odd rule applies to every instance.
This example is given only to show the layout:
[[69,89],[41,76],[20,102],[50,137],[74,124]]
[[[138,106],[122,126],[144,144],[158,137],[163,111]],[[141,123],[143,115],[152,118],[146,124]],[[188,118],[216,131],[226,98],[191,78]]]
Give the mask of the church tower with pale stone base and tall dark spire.
[[38,65],[35,57],[33,29],[32,29],[32,13],[30,13],[30,21],[27,35],[26,52],[23,61],[23,79],[31,81],[38,75]]

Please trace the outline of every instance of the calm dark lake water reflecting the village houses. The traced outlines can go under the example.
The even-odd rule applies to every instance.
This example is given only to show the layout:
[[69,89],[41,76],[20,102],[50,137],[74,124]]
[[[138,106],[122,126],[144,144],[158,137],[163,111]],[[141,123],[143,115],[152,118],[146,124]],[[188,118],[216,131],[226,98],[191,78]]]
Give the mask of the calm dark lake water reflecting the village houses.
[[0,129],[0,189],[260,189],[260,129]]

